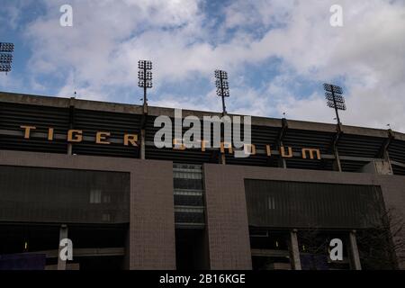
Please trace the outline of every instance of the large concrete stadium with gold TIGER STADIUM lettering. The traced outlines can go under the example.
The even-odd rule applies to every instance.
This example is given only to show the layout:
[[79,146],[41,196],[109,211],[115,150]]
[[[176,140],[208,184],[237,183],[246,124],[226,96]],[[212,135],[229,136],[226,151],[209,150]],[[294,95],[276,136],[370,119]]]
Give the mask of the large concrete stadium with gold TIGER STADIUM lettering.
[[255,153],[234,157],[157,148],[160,115],[0,93],[0,268],[405,268],[405,134],[252,117]]

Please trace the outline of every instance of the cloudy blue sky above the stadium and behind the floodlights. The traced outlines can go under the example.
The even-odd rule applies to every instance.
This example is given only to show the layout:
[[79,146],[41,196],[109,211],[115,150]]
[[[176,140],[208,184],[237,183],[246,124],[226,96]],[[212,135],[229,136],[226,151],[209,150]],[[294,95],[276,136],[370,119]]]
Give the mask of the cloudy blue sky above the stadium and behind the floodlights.
[[[348,125],[405,132],[405,0],[0,0],[14,69],[0,91],[141,103],[138,60],[154,63],[149,104],[334,122],[322,83],[344,88]],[[59,8],[73,7],[73,27]],[[343,7],[343,27],[329,9]]]

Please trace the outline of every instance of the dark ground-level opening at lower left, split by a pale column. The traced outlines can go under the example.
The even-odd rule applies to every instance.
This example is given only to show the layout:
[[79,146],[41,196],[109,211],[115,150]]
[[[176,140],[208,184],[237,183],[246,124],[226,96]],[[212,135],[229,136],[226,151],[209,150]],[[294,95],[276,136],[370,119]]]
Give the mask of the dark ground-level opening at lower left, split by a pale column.
[[[60,224],[0,224],[0,270],[56,270]],[[69,224],[73,260],[67,270],[125,268],[128,224]]]

